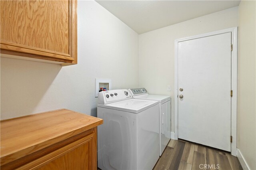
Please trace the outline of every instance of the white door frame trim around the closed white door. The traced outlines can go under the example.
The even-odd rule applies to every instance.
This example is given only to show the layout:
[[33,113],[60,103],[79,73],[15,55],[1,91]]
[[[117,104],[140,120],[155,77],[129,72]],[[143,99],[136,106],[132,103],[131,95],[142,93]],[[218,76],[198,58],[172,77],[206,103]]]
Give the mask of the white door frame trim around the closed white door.
[[[174,139],[178,140],[178,43],[193,40],[197,38],[204,38],[208,36],[215,36],[218,34],[225,34],[231,32],[231,43],[233,45],[233,50],[231,51],[232,61],[231,61],[231,88],[233,91],[233,96],[231,98],[231,154],[236,156],[237,148],[237,27],[228,28],[225,30],[219,30],[214,32],[209,32],[206,34],[200,34],[196,36],[190,36],[187,38],[181,38],[175,40],[175,62],[174,62]],[[230,44],[231,45],[231,44]],[[176,97],[177,96],[177,97]]]

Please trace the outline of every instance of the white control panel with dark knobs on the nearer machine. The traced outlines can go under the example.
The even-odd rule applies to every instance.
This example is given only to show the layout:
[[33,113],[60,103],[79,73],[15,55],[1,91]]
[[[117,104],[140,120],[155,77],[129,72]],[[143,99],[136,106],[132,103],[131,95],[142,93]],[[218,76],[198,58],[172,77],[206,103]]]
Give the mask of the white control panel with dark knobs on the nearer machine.
[[127,89],[117,89],[109,91],[101,91],[98,95],[99,104],[109,104],[117,101],[123,101],[132,98],[132,95]]

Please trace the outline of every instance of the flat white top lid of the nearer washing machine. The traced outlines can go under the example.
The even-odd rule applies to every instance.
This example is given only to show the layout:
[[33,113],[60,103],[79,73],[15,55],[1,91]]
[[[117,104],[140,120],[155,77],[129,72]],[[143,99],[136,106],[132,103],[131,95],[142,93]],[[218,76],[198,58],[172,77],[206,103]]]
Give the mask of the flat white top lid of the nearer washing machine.
[[130,113],[140,113],[157,104],[158,104],[158,101],[128,99],[125,101],[119,101],[119,102],[110,103],[107,105],[98,104],[98,107],[104,107],[108,109],[114,109],[118,111],[130,112]]

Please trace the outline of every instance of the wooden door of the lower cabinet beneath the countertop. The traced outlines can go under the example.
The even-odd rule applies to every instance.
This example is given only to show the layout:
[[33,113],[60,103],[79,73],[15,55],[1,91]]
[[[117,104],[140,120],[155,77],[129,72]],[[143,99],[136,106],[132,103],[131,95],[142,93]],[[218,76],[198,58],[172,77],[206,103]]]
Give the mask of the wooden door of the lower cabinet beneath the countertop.
[[97,168],[96,136],[95,132],[89,134],[19,167],[18,170],[95,170]]

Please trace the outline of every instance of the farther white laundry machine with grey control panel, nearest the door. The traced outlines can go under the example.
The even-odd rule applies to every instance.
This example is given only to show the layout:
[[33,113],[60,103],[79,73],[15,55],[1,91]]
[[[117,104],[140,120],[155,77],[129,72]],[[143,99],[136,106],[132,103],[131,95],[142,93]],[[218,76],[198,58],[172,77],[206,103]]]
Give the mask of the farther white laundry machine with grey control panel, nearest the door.
[[160,156],[164,152],[171,138],[171,97],[164,95],[149,95],[145,88],[136,88],[128,90],[134,99],[144,99],[158,101],[159,103],[159,143]]

